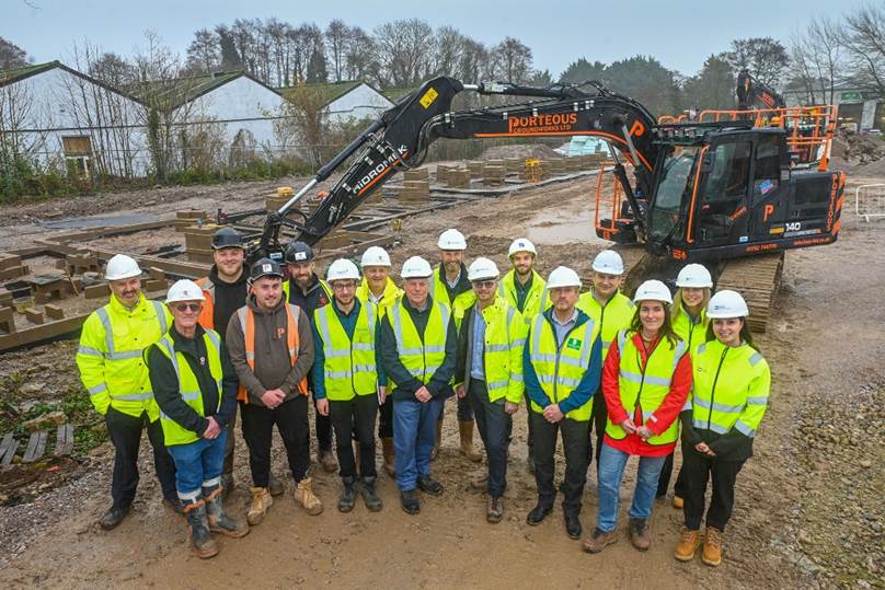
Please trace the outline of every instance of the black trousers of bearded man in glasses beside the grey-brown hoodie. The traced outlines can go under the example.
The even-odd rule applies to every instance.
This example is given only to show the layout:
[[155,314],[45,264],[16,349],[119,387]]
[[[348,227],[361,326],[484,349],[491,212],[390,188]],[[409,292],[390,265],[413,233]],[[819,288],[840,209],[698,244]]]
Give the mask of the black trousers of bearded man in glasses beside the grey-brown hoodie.
[[378,396],[357,395],[346,402],[329,401],[329,417],[335,429],[335,452],[338,455],[338,475],[356,475],[354,447],[350,442],[354,430],[359,441],[359,475],[375,477],[375,418],[378,415]]

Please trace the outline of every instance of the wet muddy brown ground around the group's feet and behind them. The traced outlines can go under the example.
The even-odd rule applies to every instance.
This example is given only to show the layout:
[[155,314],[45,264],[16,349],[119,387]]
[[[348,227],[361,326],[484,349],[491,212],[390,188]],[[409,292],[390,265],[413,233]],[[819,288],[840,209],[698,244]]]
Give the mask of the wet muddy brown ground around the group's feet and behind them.
[[[211,210],[220,201],[254,207],[275,184],[161,189],[10,208],[3,211],[0,235],[18,236],[15,243],[21,243],[32,220],[54,210],[62,216],[170,213],[184,206]],[[543,273],[570,264],[585,274],[593,254],[605,246],[588,239],[593,188],[594,182],[584,180],[409,219],[402,244],[392,252],[394,265],[412,254],[432,256],[439,231],[457,227],[468,235],[471,258],[486,255],[504,264],[510,239],[526,234],[538,243]],[[457,452],[455,404],[449,403],[442,452],[433,465],[446,493],[425,498],[417,517],[400,510],[395,485],[386,475],[379,478],[383,511],[369,513],[358,502],[352,513],[341,514],[335,509],[337,477],[314,468],[314,489],[326,506],[322,516],[300,511],[289,483],[263,524],[243,540],[221,540],[221,554],[200,562],[187,549],[184,522],[160,505],[147,446],[131,516],[111,532],[95,525],[108,504],[113,454],[105,444],[82,459],[65,485],[0,507],[0,586],[885,587],[884,250],[885,221],[863,222],[846,207],[837,244],[788,254],[771,328],[759,338],[772,368],[771,407],[756,456],[738,478],[719,568],[673,558],[681,519],[668,504],[655,508],[653,545],[644,554],[625,536],[600,555],[583,554],[579,543],[565,536],[559,507],[542,525],[526,525],[535,484],[526,472],[525,408],[515,419],[505,519],[487,524],[482,497],[468,489],[481,467]],[[73,351],[72,343],[62,343],[7,355],[0,357],[2,372],[39,381],[44,390],[64,390],[77,380]],[[245,460],[240,438],[239,486],[229,506],[241,516],[249,504]],[[275,471],[284,470],[277,448]],[[586,532],[595,522],[594,471],[582,514]],[[635,462],[628,473],[634,471]],[[622,490],[622,518],[633,482],[629,475]]]

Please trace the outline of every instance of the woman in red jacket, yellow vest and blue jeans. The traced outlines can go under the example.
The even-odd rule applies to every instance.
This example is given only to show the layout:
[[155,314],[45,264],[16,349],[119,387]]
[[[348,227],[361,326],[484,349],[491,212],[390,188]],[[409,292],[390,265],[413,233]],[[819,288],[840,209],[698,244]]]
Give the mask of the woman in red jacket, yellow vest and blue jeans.
[[691,387],[685,340],[670,325],[673,296],[659,280],[646,280],[633,298],[630,329],[618,333],[602,368],[608,421],[599,454],[599,511],[584,551],[599,553],[617,541],[618,493],[631,455],[640,458],[628,532],[633,546],[651,544],[648,517],[664,461],[679,438],[679,412]]

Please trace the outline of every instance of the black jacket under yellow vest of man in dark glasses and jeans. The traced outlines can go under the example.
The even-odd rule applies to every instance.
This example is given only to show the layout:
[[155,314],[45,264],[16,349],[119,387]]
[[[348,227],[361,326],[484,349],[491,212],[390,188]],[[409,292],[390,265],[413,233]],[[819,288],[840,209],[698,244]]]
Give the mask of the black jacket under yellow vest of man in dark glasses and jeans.
[[[230,363],[230,359],[225,350],[225,343],[221,343],[221,368],[223,370],[223,378],[221,380],[221,392],[212,379],[209,371],[208,350],[206,343],[203,339],[203,334],[206,331],[203,326],[197,325],[196,334],[193,338],[185,338],[175,329],[175,326],[170,328],[169,334],[172,336],[173,347],[176,352],[184,355],[187,360],[187,366],[194,372],[199,383],[199,392],[203,394],[203,407],[205,416],[197,414],[194,408],[187,405],[181,396],[181,387],[179,385],[179,378],[175,374],[175,368],[172,361],[166,357],[157,345],[152,345],[148,349],[148,367],[150,367],[150,384],[153,389],[153,397],[157,400],[157,405],[160,409],[179,424],[182,428],[196,432],[200,437],[206,428],[209,426],[209,420],[206,418],[214,416],[216,421],[222,428],[230,421],[237,409],[237,372]],[[203,362],[200,362],[200,360]],[[218,396],[221,395],[221,407],[218,412]]]

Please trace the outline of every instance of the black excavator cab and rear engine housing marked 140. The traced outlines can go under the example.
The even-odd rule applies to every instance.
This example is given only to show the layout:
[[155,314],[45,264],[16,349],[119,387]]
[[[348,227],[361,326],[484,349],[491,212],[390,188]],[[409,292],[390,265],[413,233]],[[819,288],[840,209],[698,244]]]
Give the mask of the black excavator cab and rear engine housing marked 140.
[[842,173],[791,169],[778,127],[663,125],[645,207],[647,247],[732,258],[834,242]]

